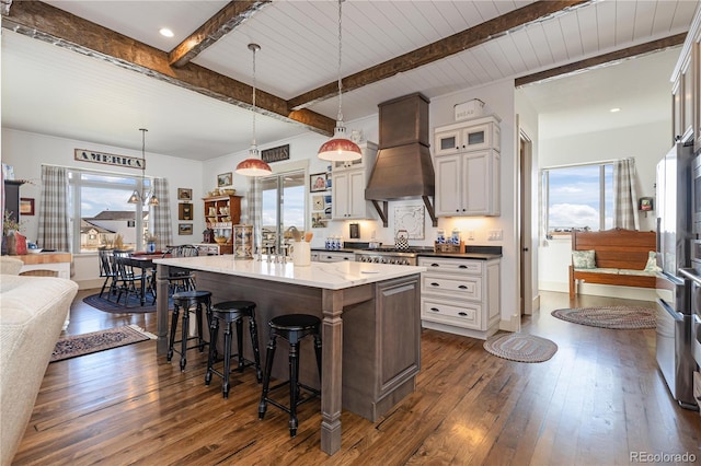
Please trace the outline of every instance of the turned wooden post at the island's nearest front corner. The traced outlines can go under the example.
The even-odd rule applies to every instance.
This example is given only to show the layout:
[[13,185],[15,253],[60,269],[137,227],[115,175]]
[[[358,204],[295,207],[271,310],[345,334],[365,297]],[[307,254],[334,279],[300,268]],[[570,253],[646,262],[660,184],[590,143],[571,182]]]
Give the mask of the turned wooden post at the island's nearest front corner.
[[341,450],[343,293],[322,292],[321,450],[330,455]]

